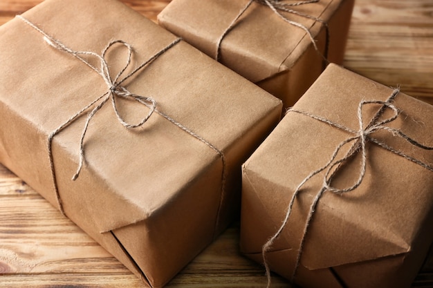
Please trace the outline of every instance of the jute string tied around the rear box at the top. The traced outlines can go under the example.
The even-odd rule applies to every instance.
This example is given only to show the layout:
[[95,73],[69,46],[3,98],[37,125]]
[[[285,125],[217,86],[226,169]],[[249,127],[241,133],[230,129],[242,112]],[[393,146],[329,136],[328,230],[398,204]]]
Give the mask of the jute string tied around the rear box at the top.
[[[246,10],[248,10],[248,8],[251,6],[251,4],[253,2],[257,2],[261,5],[264,6],[268,6],[271,10],[273,10],[273,12],[275,12],[275,14],[281,18],[282,20],[286,21],[286,23],[289,23],[292,26],[295,26],[297,28],[300,28],[302,30],[304,30],[306,32],[306,35],[308,35],[308,37],[311,40],[311,43],[314,46],[314,49],[316,50],[316,52],[320,55],[320,57],[322,57],[322,59],[324,60],[324,62],[326,64],[328,64],[328,59],[327,59],[327,55],[328,55],[328,50],[329,50],[329,28],[328,28],[328,24],[317,17],[313,17],[311,15],[307,15],[305,13],[299,12],[297,10],[293,10],[293,8],[295,6],[301,6],[301,5],[306,5],[306,4],[311,4],[311,3],[318,3],[320,0],[307,0],[307,1],[297,1],[294,3],[286,3],[284,2],[284,0],[250,0],[248,1],[248,3],[246,3],[246,6],[244,6],[238,13],[238,15],[236,17],[234,17],[233,21],[230,23],[230,25],[228,26],[228,28],[225,29],[225,31],[223,32],[223,34],[221,35],[221,37],[219,37],[218,41],[216,41],[216,53],[215,53],[215,58],[216,61],[219,61],[221,58],[221,44],[223,42],[223,39],[228,35],[228,33],[236,26],[236,23],[239,21],[239,18],[241,18],[241,16],[246,12]],[[320,22],[322,23],[322,25],[324,26],[325,30],[326,30],[326,43],[325,43],[325,50],[324,53],[322,54],[322,52],[320,52],[319,48],[317,47],[316,41],[313,37],[313,35],[311,34],[310,30],[308,30],[308,28],[306,28],[306,26],[302,23],[298,23],[296,21],[292,21],[291,19],[289,19],[286,15],[283,15],[282,12],[287,12],[293,15],[298,15],[300,17],[304,17],[307,19],[312,19],[314,21]]]

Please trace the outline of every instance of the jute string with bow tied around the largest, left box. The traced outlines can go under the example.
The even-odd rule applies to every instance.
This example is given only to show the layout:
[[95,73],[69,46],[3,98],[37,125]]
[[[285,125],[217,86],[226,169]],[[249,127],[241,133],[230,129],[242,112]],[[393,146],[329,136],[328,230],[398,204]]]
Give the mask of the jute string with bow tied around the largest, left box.
[[[168,44],[167,46],[165,46],[164,48],[162,48],[161,50],[156,52],[152,57],[147,59],[147,61],[142,62],[142,64],[140,64],[137,68],[133,69],[131,73],[127,74],[125,77],[122,77],[122,74],[125,73],[125,70],[127,70],[129,65],[131,64],[131,56],[133,54],[133,48],[127,42],[122,41],[122,40],[110,41],[109,44],[104,48],[104,50],[102,50],[101,55],[98,55],[97,53],[91,52],[91,51],[75,51],[75,50],[72,50],[71,48],[68,48],[66,45],[62,44],[62,42],[59,41],[58,39],[54,39],[53,37],[50,37],[50,35],[48,35],[46,32],[44,32],[41,28],[37,27],[34,23],[28,21],[28,19],[22,17],[21,15],[17,15],[17,18],[21,19],[22,21],[24,21],[24,23],[28,24],[28,26],[30,26],[31,28],[37,30],[39,33],[44,35],[44,41],[46,41],[46,43],[49,44],[51,47],[53,47],[57,50],[60,50],[62,52],[66,52],[68,55],[71,55],[71,56],[79,59],[84,64],[89,66],[93,71],[98,73],[102,77],[102,79],[104,80],[105,84],[107,84],[107,92],[105,92],[100,97],[96,98],[93,102],[91,102],[90,104],[88,104],[87,106],[82,108],[80,111],[75,113],[75,115],[71,116],[66,122],[64,122],[57,129],[55,129],[55,131],[51,132],[50,135],[48,135],[48,142],[47,142],[48,156],[50,158],[49,159],[50,160],[50,169],[51,169],[51,173],[53,176],[54,190],[55,190],[55,194],[56,194],[57,204],[59,205],[59,210],[63,214],[65,214],[64,209],[63,209],[63,205],[62,205],[62,200],[60,198],[58,187],[57,187],[56,177],[55,177],[53,152],[52,152],[53,138],[55,137],[55,135],[57,135],[57,133],[62,131],[66,126],[68,126],[69,124],[74,122],[78,117],[80,117],[80,115],[82,115],[85,111],[88,111],[89,108],[94,106],[94,108],[87,115],[86,122],[84,124],[84,128],[83,128],[82,135],[80,138],[80,160],[79,160],[79,163],[77,166],[77,171],[75,172],[75,174],[72,177],[72,180],[76,180],[77,177],[80,175],[80,171],[81,171],[82,166],[83,166],[84,161],[85,161],[84,137],[86,135],[87,128],[89,127],[89,123],[91,122],[91,119],[93,118],[93,116],[98,111],[100,111],[100,109],[105,104],[107,104],[107,102],[109,102],[109,100],[111,100],[111,104],[113,106],[113,111],[116,113],[116,117],[117,117],[118,121],[120,122],[120,124],[125,126],[125,128],[141,127],[145,124],[145,122],[147,122],[147,120],[149,119],[149,117],[151,117],[151,115],[153,113],[158,113],[158,115],[164,117],[169,122],[172,122],[172,124],[178,126],[178,128],[181,128],[183,131],[185,131],[186,133],[188,133],[192,137],[196,138],[197,140],[203,142],[203,144],[212,148],[212,150],[215,151],[221,157],[221,162],[222,162],[222,166],[223,166],[223,171],[221,173],[222,174],[221,175],[221,198],[220,198],[219,210],[216,214],[216,222],[215,222],[215,227],[218,227],[220,211],[221,211],[223,201],[225,199],[226,164],[225,164],[225,155],[224,155],[223,151],[221,151],[219,148],[216,148],[216,146],[214,146],[213,144],[211,144],[210,142],[205,140],[203,137],[194,133],[194,131],[192,131],[190,128],[187,128],[183,124],[177,122],[172,117],[169,117],[169,115],[166,115],[165,113],[163,113],[161,111],[158,111],[158,109],[156,108],[156,100],[154,98],[145,97],[145,96],[131,93],[131,92],[129,92],[129,90],[127,90],[127,88],[125,88],[125,86],[122,86],[123,82],[125,82],[127,79],[129,79],[133,75],[136,75],[136,73],[138,73],[138,71],[140,71],[142,68],[148,66],[149,64],[151,64],[151,62],[158,59],[158,57],[160,57],[165,52],[167,52],[167,50],[169,50],[170,48],[172,48],[173,46],[178,44],[181,41],[181,38],[175,39],[174,41],[172,41],[172,43]],[[112,78],[111,73],[110,73],[110,69],[109,69],[109,64],[107,63],[107,59],[105,58],[105,55],[106,55],[107,51],[109,50],[109,48],[111,48],[114,44],[120,44],[120,45],[126,47],[128,50],[128,56],[127,56],[127,62],[125,64],[125,66],[120,70],[120,72],[116,75],[116,77]],[[88,60],[86,60],[82,57],[83,55],[89,55],[89,56],[96,57],[96,59],[98,59],[98,61],[100,63],[100,68],[93,66]],[[116,97],[135,100],[139,104],[147,106],[147,108],[149,108],[149,112],[137,124],[130,124],[130,123],[126,122],[125,119],[123,119],[122,116],[120,115],[120,113],[118,111],[118,106],[117,106],[118,104],[116,102]]]

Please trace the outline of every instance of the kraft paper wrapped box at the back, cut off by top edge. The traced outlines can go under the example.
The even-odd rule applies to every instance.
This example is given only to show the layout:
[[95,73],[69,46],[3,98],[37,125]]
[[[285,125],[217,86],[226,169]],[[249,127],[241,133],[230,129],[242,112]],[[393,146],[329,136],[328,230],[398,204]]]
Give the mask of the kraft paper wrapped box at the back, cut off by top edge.
[[323,57],[342,64],[354,1],[297,6],[293,5],[306,1],[270,1],[294,12],[274,12],[257,2],[248,6],[250,0],[173,0],[158,15],[158,23],[210,57],[218,55],[222,64],[282,99],[284,107],[293,106],[322,73]]

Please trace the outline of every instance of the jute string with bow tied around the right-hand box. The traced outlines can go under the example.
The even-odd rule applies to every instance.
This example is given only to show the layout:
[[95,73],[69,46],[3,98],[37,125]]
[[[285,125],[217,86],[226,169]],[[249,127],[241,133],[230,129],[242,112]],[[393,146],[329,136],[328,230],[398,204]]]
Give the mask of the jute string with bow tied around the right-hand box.
[[[313,115],[312,113],[308,113],[305,111],[299,111],[299,110],[296,110],[293,108],[288,110],[287,113],[298,113],[301,115],[305,115],[307,117],[311,117],[317,121],[324,122],[324,123],[329,124],[335,128],[338,128],[342,131],[346,131],[347,133],[349,133],[353,136],[348,137],[346,140],[344,140],[340,144],[338,144],[337,148],[335,148],[335,151],[333,151],[333,154],[331,155],[331,158],[329,159],[329,161],[326,162],[326,164],[324,164],[324,166],[320,167],[319,169],[311,172],[308,176],[306,176],[304,178],[304,180],[302,180],[302,182],[300,182],[300,184],[295,189],[295,192],[293,193],[292,198],[288,204],[288,209],[286,211],[286,215],[284,217],[284,220],[283,220],[281,226],[279,227],[277,232],[262,247],[262,257],[263,257],[264,266],[266,269],[266,276],[268,278],[267,287],[270,287],[270,268],[269,268],[266,254],[272,250],[273,243],[282,234],[282,231],[286,227],[286,224],[288,223],[288,220],[289,220],[291,213],[293,211],[293,204],[295,203],[297,195],[301,192],[302,186],[304,186],[304,184],[306,182],[308,182],[308,180],[310,180],[312,177],[314,177],[315,175],[324,171],[322,187],[318,191],[317,195],[315,195],[315,198],[313,199],[313,202],[312,202],[311,207],[309,209],[308,216],[306,218],[306,224],[304,226],[304,231],[302,233],[300,246],[299,246],[299,249],[297,251],[297,257],[295,260],[295,267],[293,269],[293,273],[291,276],[292,282],[295,280],[297,269],[300,267],[300,260],[302,257],[302,252],[304,251],[304,243],[306,240],[306,235],[308,233],[308,227],[310,227],[311,221],[313,219],[313,215],[315,213],[315,209],[317,208],[317,204],[318,204],[320,198],[322,198],[322,195],[326,191],[330,191],[332,193],[337,193],[337,194],[341,195],[344,193],[349,193],[349,192],[357,189],[358,186],[360,186],[360,184],[362,183],[362,180],[365,177],[365,172],[367,169],[367,143],[368,142],[377,144],[378,146],[385,148],[386,150],[390,151],[391,153],[394,153],[400,157],[403,157],[406,160],[414,162],[415,164],[418,164],[419,166],[422,166],[423,168],[433,172],[432,164],[427,164],[425,162],[422,162],[421,160],[418,160],[418,159],[416,159],[410,155],[407,155],[406,153],[403,153],[403,151],[398,151],[397,149],[392,148],[388,144],[380,142],[379,140],[375,139],[374,137],[371,137],[371,135],[377,131],[387,131],[387,132],[391,133],[392,135],[394,135],[394,137],[400,137],[403,140],[405,140],[406,142],[409,142],[409,144],[412,144],[418,148],[425,149],[425,150],[433,150],[432,146],[425,146],[425,145],[417,142],[416,140],[413,140],[411,137],[407,136],[405,133],[400,131],[400,129],[385,126],[386,124],[389,124],[390,122],[393,122],[395,119],[397,119],[398,115],[400,114],[400,110],[393,104],[393,102],[394,102],[393,100],[396,97],[396,95],[398,95],[398,93],[399,93],[399,89],[395,89],[393,91],[393,93],[391,94],[391,96],[385,102],[384,101],[376,101],[376,100],[373,100],[373,101],[362,100],[360,102],[360,104],[358,105],[358,114],[357,114],[358,125],[359,125],[358,131],[354,131],[351,128],[348,128],[346,126],[343,126],[343,125],[335,123],[335,122],[332,122],[331,120],[326,119],[324,117]],[[366,128],[364,128],[363,119],[362,119],[362,108],[365,105],[374,105],[374,104],[381,105],[381,108],[378,111],[378,113],[376,113],[376,115],[373,117],[373,119],[371,119],[371,121],[366,126]],[[383,115],[383,113],[387,109],[392,111],[392,116],[387,118],[387,119],[380,120],[380,116]],[[346,153],[346,155],[344,155],[340,159],[337,159],[340,150],[348,144],[351,144],[349,151]],[[356,182],[352,186],[349,186],[349,187],[344,188],[344,189],[338,189],[338,188],[332,186],[332,181],[335,178],[335,175],[339,171],[340,167],[342,167],[340,165],[347,163],[351,159],[351,157],[353,157],[357,153],[361,153],[361,164],[360,164],[360,172],[358,175],[358,180],[356,180]]]

